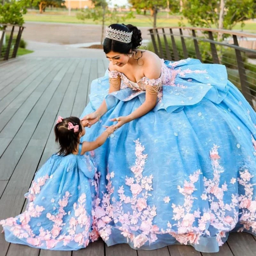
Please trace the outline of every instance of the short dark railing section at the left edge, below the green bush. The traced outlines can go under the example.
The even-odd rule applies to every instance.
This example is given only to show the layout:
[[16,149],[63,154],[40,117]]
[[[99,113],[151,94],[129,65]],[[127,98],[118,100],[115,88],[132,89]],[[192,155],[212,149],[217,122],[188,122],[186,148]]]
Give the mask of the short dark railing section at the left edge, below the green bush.
[[[15,58],[25,27],[11,24],[0,24],[0,61]],[[4,40],[4,39],[7,40]]]

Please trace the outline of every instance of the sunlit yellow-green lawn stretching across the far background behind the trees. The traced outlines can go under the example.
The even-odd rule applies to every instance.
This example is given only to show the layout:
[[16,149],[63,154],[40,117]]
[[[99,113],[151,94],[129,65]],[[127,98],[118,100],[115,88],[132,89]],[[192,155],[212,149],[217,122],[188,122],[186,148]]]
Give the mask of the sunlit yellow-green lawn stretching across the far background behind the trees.
[[[37,21],[37,22],[59,22],[59,23],[77,23],[77,24],[99,24],[99,22],[95,22],[92,19],[87,20],[78,20],[76,19],[77,11],[72,11],[71,15],[68,15],[68,11],[51,11],[47,10],[45,13],[40,14],[38,11],[28,11],[27,14],[24,15],[25,21]],[[167,14],[164,12],[160,12],[158,14],[157,26],[158,27],[173,27],[178,26],[180,21],[179,15],[170,15],[167,18]],[[186,19],[183,20],[186,26],[189,26]],[[125,23],[131,23],[138,27],[152,27],[153,18],[150,15],[138,15],[133,19],[128,19]],[[252,20],[248,20],[245,22],[245,26],[243,30],[256,33],[256,22]],[[237,24],[233,29],[241,30],[240,24]]]

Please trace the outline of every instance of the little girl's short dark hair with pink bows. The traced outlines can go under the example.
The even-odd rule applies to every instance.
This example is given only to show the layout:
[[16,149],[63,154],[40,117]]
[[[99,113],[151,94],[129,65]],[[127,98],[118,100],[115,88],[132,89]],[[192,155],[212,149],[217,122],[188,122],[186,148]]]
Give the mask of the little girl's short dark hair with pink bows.
[[[68,123],[72,123],[74,126],[78,124],[78,132],[74,132],[74,129],[68,130]],[[80,119],[75,116],[63,118],[62,122],[56,124],[54,127],[55,141],[59,142],[60,150],[59,154],[67,156],[76,150],[77,143],[79,143],[79,133],[83,128],[80,124]]]

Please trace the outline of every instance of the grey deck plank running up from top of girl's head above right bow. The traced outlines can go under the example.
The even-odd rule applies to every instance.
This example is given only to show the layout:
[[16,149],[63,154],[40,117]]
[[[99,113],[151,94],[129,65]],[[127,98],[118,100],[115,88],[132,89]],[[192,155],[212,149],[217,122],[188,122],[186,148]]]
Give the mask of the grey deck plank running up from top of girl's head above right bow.
[[84,64],[81,79],[76,92],[76,98],[72,109],[72,116],[80,116],[86,106],[88,88],[89,88],[89,73],[92,60],[87,59]]

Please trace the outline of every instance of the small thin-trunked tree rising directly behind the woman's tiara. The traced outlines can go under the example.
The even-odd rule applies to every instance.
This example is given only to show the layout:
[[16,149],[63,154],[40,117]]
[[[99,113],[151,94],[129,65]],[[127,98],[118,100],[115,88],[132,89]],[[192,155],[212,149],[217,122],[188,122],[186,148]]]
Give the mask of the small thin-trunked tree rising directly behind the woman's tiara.
[[133,18],[132,12],[120,14],[117,6],[110,10],[108,8],[109,2],[106,0],[94,0],[93,4],[94,8],[81,10],[81,12],[76,14],[76,18],[79,20],[92,19],[101,23],[100,44],[103,43],[105,23],[107,21],[110,23],[119,23],[120,21],[124,22],[127,18]]

